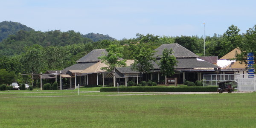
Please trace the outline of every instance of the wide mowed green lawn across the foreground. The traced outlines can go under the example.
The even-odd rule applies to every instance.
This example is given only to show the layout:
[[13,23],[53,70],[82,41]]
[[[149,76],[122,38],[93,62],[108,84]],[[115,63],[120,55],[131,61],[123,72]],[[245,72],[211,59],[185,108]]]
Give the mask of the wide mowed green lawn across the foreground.
[[[256,93],[150,96],[98,94],[100,96],[19,98],[13,93],[0,93],[0,128],[253,128],[256,126]],[[62,94],[47,93],[47,96],[62,96]]]

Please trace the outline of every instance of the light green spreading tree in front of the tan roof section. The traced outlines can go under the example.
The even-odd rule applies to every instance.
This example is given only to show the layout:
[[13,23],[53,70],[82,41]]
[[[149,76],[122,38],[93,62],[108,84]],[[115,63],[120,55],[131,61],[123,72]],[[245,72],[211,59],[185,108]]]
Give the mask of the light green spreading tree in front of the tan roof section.
[[123,49],[123,47],[117,47],[116,44],[109,45],[109,47],[106,48],[108,54],[99,57],[102,63],[108,66],[102,67],[101,70],[113,71],[116,67],[126,67],[126,60],[119,60],[123,57]]

